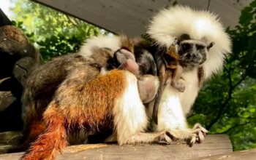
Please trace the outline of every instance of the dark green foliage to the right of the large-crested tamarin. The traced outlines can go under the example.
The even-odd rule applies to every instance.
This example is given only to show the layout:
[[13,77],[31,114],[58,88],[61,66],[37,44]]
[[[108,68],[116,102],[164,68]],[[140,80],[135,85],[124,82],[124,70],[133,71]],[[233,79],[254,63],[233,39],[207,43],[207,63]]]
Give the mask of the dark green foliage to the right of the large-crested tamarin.
[[224,71],[208,81],[189,122],[200,121],[211,134],[227,133],[235,151],[256,147],[256,1],[241,12],[239,25],[227,28],[233,53]]

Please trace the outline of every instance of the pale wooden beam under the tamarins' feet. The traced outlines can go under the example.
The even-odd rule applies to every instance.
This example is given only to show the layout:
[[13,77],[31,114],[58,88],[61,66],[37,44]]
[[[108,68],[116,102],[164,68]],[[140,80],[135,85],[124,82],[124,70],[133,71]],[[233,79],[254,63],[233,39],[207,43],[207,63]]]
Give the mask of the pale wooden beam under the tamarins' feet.
[[[227,135],[208,135],[203,143],[192,148],[181,142],[171,145],[73,145],[67,147],[59,159],[192,159],[230,152],[232,145]],[[19,159],[22,154],[2,154],[0,160]]]

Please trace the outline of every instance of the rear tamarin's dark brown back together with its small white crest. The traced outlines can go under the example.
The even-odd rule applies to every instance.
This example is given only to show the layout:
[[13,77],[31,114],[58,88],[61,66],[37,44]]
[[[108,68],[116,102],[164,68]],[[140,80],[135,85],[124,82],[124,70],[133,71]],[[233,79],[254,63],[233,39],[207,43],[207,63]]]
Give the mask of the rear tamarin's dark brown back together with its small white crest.
[[26,141],[17,151],[22,151],[45,130],[42,113],[61,82],[75,68],[88,68],[86,81],[99,75],[101,67],[113,58],[108,52],[102,52],[101,48],[104,47],[110,49],[111,54],[121,47],[133,52],[133,44],[126,36],[101,36],[89,39],[78,53],[56,57],[45,64],[34,66],[22,97],[23,134]]

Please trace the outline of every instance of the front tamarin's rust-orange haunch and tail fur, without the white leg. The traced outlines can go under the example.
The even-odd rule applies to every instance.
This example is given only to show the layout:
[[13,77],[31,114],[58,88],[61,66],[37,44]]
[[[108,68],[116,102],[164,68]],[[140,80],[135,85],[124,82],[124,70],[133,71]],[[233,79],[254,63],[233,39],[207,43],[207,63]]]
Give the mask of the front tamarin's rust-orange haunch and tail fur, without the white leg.
[[[73,74],[64,81],[44,113],[46,131],[39,135],[22,159],[56,159],[56,153],[67,145],[67,132],[79,128],[96,132],[101,125],[111,123],[114,103],[126,85],[125,71],[113,70],[104,76],[83,82],[85,73]],[[74,76],[75,75],[75,76]],[[74,76],[74,77],[73,77]]]

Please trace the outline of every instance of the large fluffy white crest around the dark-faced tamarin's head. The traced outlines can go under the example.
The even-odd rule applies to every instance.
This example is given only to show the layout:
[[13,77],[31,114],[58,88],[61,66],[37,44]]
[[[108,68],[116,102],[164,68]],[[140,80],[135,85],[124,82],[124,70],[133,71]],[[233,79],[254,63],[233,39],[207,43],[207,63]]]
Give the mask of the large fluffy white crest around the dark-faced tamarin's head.
[[225,57],[231,50],[230,37],[217,15],[189,7],[162,9],[151,20],[147,33],[162,47],[170,47],[182,33],[189,34],[191,39],[206,40],[206,43],[213,41],[214,47],[209,50],[208,60],[203,63],[206,78],[222,69]]

